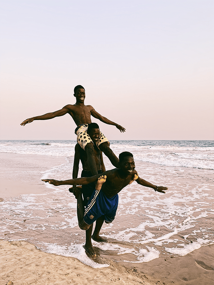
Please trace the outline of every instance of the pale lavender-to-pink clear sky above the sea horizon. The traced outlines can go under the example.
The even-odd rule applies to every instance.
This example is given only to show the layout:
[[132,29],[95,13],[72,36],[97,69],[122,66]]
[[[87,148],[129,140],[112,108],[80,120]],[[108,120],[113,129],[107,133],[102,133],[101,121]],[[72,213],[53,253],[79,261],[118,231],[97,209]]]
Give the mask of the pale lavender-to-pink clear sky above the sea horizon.
[[74,140],[86,105],[109,140],[212,140],[213,1],[1,1],[1,139]]

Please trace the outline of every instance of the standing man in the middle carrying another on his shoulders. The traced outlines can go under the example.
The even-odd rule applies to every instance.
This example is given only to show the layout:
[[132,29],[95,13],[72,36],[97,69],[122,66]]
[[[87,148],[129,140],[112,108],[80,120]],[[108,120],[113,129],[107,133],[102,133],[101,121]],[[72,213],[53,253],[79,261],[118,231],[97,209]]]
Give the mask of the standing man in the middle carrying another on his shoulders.
[[[96,145],[96,141],[99,139],[100,137],[100,129],[98,124],[96,123],[90,123],[88,125],[88,131],[87,131],[88,135],[90,136],[90,138],[92,139],[92,142],[94,143],[94,158],[95,158],[95,162],[96,162],[96,166],[97,166],[97,171],[98,174],[101,174],[102,172],[105,172],[105,166],[103,163],[103,158],[102,158],[102,151],[100,151]],[[91,177],[93,176],[90,168],[88,167],[88,163],[87,163],[87,154],[86,152],[80,147],[80,145],[77,143],[75,146],[75,155],[74,155],[74,167],[73,167],[73,179],[77,178],[78,176],[78,170],[79,170],[79,162],[82,162],[82,173],[81,173],[81,177]],[[82,188],[81,192],[83,195],[83,205],[86,206],[88,203],[88,200],[90,199],[92,193],[94,192],[94,188],[95,188],[95,183],[89,183],[87,185],[82,185],[78,186],[78,188]],[[74,192],[75,193],[75,186],[69,188],[70,192]],[[104,220],[101,218],[98,218],[96,220],[96,226],[94,229],[94,233],[92,235],[92,238],[95,241],[107,241],[107,239],[104,239],[102,237],[99,236],[100,233],[100,229],[102,227]],[[91,226],[89,227],[89,229],[86,230],[86,243],[85,243],[85,250],[86,250],[86,254],[89,257],[95,257],[96,256],[96,252],[94,251],[93,247],[92,247],[92,243],[91,243],[91,234],[92,234],[92,229],[93,229],[93,224],[91,224]]]

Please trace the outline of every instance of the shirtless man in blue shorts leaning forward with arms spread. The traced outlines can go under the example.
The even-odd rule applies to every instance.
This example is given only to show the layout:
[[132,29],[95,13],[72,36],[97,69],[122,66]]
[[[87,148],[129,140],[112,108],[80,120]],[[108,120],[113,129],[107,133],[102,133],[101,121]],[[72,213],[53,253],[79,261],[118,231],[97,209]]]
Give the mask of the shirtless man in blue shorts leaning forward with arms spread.
[[82,230],[87,230],[90,225],[100,217],[102,217],[106,223],[111,223],[114,220],[118,206],[118,193],[133,181],[136,181],[142,186],[153,188],[160,193],[165,193],[164,190],[168,189],[163,186],[158,187],[140,178],[135,170],[134,158],[130,152],[125,151],[119,155],[119,166],[120,169],[115,168],[108,170],[102,173],[101,176],[98,174],[88,178],[76,178],[62,181],[42,179],[42,181],[58,186],[74,184],[86,185],[98,180],[96,184],[97,189],[94,190],[86,209],[83,205],[81,192],[76,190],[77,193],[74,193],[77,196],[77,217],[79,227]]

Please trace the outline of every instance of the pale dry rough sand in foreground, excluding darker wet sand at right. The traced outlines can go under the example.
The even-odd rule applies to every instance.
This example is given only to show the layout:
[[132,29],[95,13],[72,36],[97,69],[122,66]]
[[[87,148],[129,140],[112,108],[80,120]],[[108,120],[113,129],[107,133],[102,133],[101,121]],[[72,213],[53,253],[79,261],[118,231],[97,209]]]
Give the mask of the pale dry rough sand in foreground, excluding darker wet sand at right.
[[[70,257],[44,253],[25,241],[1,241],[1,285],[145,284],[144,274],[111,262],[94,269]],[[10,284],[12,285],[12,283]]]

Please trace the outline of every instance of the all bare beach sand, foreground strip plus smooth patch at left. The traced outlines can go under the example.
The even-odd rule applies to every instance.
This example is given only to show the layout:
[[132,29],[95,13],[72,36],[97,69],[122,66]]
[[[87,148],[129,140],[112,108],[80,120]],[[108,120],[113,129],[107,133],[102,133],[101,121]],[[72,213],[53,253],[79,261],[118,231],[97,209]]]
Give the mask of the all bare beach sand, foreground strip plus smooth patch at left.
[[[41,183],[41,172],[64,162],[62,157],[2,153],[0,197],[3,200],[8,196],[42,194],[46,188]],[[143,263],[110,260],[109,267],[91,268],[72,257],[44,253],[26,241],[1,240],[0,285],[112,282],[131,285],[213,285],[213,253],[214,245],[210,245],[184,257],[159,257]]]

